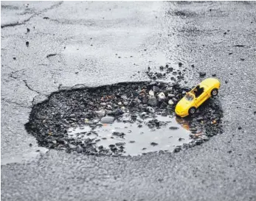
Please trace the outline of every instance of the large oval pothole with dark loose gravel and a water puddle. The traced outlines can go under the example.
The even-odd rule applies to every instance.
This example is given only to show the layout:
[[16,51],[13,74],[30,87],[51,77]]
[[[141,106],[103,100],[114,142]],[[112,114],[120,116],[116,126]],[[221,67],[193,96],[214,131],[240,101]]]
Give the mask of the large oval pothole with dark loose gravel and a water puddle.
[[125,82],[58,91],[34,105],[29,133],[50,149],[89,155],[178,152],[221,133],[218,98],[190,119],[174,108],[189,88],[165,82]]

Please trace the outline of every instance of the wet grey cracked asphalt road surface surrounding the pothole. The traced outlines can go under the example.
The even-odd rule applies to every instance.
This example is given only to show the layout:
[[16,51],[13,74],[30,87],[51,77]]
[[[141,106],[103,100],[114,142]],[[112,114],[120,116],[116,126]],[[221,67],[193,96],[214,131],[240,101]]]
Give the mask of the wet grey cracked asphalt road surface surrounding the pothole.
[[[255,8],[1,1],[1,199],[256,200]],[[180,62],[183,85],[200,82],[199,71],[221,81],[224,132],[200,146],[97,157],[38,147],[24,128],[54,91],[146,81],[148,66]]]

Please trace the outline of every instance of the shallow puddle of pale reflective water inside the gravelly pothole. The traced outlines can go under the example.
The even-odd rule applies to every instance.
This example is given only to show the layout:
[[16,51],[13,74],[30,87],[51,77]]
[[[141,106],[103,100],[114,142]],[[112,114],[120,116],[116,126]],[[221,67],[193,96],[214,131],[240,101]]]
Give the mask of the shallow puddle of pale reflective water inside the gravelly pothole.
[[159,150],[173,152],[177,146],[189,143],[192,141],[190,131],[185,128],[173,116],[133,119],[127,113],[112,124],[103,124],[99,120],[96,127],[70,128],[68,133],[70,138],[81,141],[93,139],[97,149],[118,150],[122,155],[142,155]]

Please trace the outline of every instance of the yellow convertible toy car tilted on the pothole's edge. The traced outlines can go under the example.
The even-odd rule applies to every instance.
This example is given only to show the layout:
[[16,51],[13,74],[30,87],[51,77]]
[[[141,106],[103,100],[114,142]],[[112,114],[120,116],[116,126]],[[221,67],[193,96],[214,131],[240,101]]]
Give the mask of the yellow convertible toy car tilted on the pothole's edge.
[[176,105],[175,112],[178,116],[184,117],[196,113],[196,109],[202,105],[207,99],[218,95],[218,89],[221,86],[215,78],[207,78],[203,80],[196,88],[186,93]]

